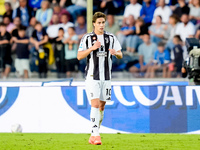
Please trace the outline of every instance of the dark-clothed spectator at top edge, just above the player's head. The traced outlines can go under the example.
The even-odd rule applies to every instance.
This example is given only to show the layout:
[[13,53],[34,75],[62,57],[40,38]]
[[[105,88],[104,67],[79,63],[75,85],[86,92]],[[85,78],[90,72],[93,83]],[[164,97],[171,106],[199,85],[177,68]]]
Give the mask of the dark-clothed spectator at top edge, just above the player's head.
[[102,0],[100,8],[100,11],[104,12],[105,14],[114,15],[117,13],[117,6],[115,5],[114,0]]

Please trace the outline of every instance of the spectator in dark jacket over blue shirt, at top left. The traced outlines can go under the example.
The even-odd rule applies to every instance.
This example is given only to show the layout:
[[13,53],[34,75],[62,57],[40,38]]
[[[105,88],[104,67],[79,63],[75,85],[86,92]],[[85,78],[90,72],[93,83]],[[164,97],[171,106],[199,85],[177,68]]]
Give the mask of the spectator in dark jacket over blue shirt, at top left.
[[19,0],[19,7],[13,11],[12,18],[19,17],[22,25],[27,27],[32,16],[33,11],[27,7],[27,0]]

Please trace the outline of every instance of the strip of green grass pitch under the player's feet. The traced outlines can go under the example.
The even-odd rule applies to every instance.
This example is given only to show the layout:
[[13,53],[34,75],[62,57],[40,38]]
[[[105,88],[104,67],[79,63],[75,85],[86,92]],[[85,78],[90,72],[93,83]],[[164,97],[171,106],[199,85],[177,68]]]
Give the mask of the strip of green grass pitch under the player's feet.
[[89,134],[0,133],[1,150],[199,150],[200,135],[101,134],[103,145],[88,144]]

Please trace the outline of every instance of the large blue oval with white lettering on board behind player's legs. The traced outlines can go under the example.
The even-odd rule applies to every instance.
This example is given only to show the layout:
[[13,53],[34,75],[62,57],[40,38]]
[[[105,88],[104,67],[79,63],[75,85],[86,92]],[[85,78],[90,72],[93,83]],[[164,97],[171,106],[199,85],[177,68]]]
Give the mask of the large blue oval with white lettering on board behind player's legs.
[[[89,120],[84,87],[62,87],[66,102]],[[186,133],[200,130],[199,86],[112,86],[102,125],[131,133]]]

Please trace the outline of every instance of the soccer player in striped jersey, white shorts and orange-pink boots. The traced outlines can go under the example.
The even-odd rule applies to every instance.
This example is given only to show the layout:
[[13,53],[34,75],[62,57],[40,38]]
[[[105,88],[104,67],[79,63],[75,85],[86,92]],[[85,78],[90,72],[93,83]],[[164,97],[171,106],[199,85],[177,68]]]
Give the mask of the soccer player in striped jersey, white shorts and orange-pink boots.
[[111,100],[112,56],[123,57],[117,38],[106,31],[106,15],[96,12],[93,15],[94,31],[83,36],[77,58],[87,57],[86,93],[91,100],[90,120],[92,123],[89,143],[101,145],[99,128],[104,116],[106,101]]

